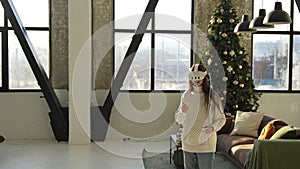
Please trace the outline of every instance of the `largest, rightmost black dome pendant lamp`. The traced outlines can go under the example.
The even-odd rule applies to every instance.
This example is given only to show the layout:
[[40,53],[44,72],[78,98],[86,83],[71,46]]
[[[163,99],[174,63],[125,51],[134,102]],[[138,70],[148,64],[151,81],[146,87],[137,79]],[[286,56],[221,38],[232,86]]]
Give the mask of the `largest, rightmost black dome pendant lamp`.
[[273,11],[268,13],[263,21],[263,24],[274,25],[274,24],[290,24],[292,19],[289,14],[282,10],[282,3],[275,2],[275,8]]

